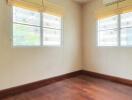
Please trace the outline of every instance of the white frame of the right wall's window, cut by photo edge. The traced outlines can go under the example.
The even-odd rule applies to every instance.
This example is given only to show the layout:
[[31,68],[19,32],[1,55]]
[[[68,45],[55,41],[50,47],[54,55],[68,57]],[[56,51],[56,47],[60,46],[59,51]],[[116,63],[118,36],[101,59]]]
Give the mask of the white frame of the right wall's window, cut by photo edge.
[[[129,13],[129,12],[128,12]],[[121,13],[121,14],[125,14],[125,13]],[[98,21],[96,21],[96,47],[98,48],[132,48],[132,45],[121,45],[121,29],[124,29],[124,28],[121,28],[121,14],[118,14],[117,15],[117,31],[118,31],[118,37],[117,37],[117,46],[101,46],[99,45],[99,30],[98,30]],[[111,16],[112,17],[112,16]],[[132,28],[132,27],[131,27]]]

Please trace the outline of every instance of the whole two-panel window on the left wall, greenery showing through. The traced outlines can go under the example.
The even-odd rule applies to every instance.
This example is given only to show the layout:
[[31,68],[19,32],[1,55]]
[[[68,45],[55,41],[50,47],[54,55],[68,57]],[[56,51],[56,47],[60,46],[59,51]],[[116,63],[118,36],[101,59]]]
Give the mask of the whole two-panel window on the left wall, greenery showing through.
[[61,17],[13,7],[13,46],[60,46]]

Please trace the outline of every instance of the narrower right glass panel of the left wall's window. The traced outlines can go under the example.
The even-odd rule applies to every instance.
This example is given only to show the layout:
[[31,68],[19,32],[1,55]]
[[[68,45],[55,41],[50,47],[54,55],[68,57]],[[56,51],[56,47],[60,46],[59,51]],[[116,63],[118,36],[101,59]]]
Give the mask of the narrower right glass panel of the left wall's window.
[[43,45],[60,46],[62,32],[61,17],[45,13],[43,21]]

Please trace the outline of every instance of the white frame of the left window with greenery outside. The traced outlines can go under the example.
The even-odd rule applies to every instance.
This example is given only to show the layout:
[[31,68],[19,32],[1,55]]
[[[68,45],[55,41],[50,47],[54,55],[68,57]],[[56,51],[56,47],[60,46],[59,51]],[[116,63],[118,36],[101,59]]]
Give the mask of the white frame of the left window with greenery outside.
[[[61,38],[60,38],[60,45],[44,45],[43,44],[43,35],[44,35],[44,32],[43,32],[43,12],[39,12],[39,14],[40,14],[40,45],[14,45],[14,43],[13,43],[13,24],[15,23],[14,21],[13,21],[13,11],[14,11],[14,9],[13,9],[13,7],[15,7],[15,6],[12,6],[11,7],[11,19],[12,19],[12,23],[11,23],[11,46],[13,47],[13,48],[37,48],[37,47],[41,47],[41,48],[43,48],[43,47],[63,47],[63,34],[64,34],[64,17],[63,16],[60,16],[61,17]],[[19,8],[19,7],[18,7]],[[20,24],[20,25],[23,25],[23,24]],[[30,24],[28,25],[28,24],[26,24],[27,26],[30,26]],[[31,26],[35,26],[35,25],[31,25]],[[36,25],[37,26],[37,25]]]

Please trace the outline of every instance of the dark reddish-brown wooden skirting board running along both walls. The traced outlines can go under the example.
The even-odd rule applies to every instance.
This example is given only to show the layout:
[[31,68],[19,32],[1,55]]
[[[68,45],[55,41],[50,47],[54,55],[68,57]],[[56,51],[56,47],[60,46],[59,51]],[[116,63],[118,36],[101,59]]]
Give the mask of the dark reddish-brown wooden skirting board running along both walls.
[[31,91],[31,90],[34,90],[34,89],[37,89],[37,88],[41,88],[43,86],[46,86],[46,85],[49,85],[49,84],[52,84],[52,83],[55,83],[55,82],[58,82],[58,81],[61,81],[61,80],[76,77],[78,75],[88,75],[88,76],[91,76],[91,77],[101,78],[101,79],[109,80],[109,81],[112,81],[112,82],[117,82],[117,83],[121,83],[121,84],[124,84],[124,85],[132,86],[132,80],[127,80],[127,79],[118,78],[118,77],[114,77],[114,76],[104,75],[104,74],[91,72],[91,71],[80,70],[80,71],[68,73],[68,74],[65,74],[65,75],[61,75],[61,76],[57,76],[57,77],[44,79],[44,80],[40,80],[40,81],[37,81],[37,82],[33,82],[33,83],[29,83],[29,84],[25,84],[25,85],[13,87],[13,88],[9,88],[9,89],[6,89],[6,90],[0,90],[0,100],[2,98],[5,98],[5,97],[9,97],[9,96],[17,95],[19,93],[23,93],[23,92],[26,92],[26,91]]

